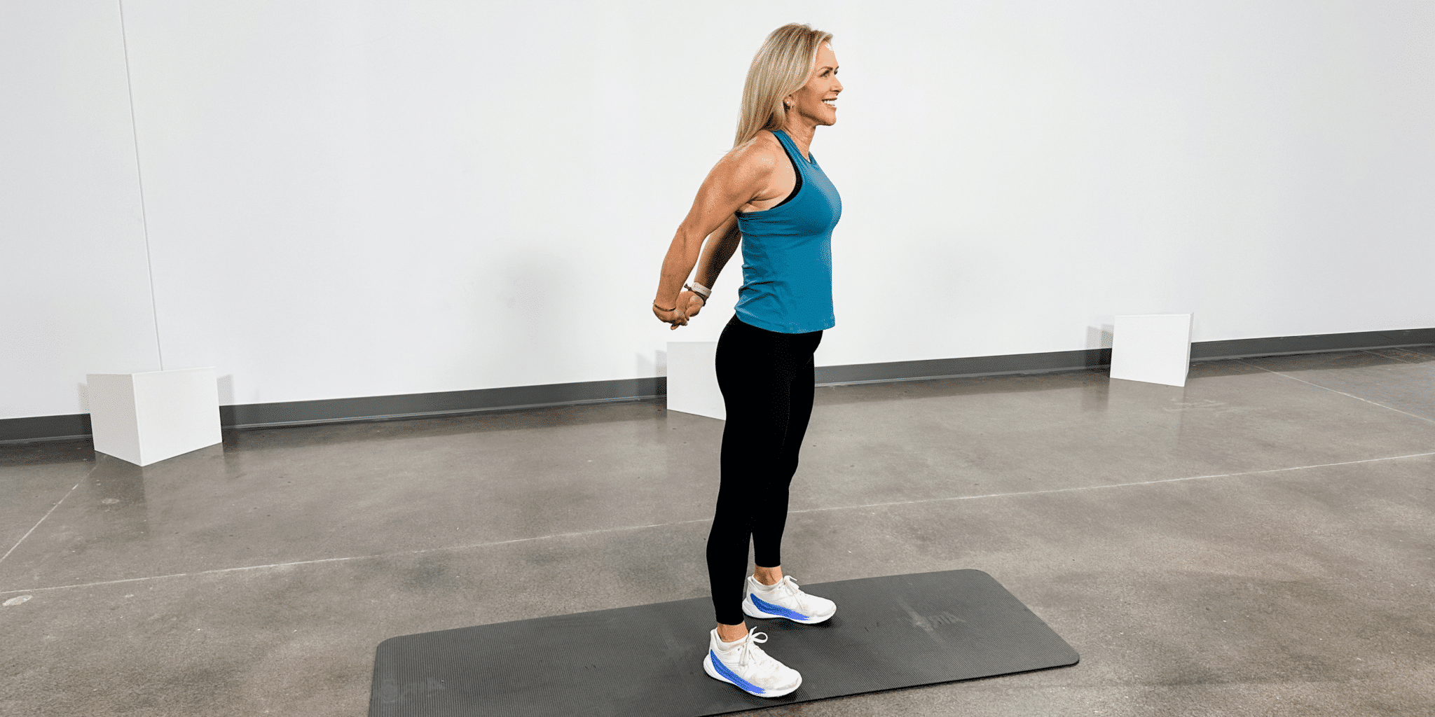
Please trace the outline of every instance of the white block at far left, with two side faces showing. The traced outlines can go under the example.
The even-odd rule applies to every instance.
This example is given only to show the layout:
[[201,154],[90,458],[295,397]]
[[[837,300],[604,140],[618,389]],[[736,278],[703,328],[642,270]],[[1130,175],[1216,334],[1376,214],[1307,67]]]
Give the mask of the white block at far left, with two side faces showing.
[[136,466],[220,443],[220,384],[214,367],[92,373],[95,450]]

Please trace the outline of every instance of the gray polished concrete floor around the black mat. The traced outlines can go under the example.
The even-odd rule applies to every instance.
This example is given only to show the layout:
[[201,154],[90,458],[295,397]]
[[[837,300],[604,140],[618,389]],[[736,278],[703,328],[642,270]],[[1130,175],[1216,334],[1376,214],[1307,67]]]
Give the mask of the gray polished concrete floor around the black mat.
[[[144,469],[0,449],[0,713],[362,716],[389,637],[705,597],[722,426],[646,402],[227,430]],[[784,562],[977,568],[1082,661],[771,714],[1435,714],[1435,347],[819,387]]]

